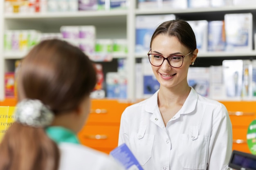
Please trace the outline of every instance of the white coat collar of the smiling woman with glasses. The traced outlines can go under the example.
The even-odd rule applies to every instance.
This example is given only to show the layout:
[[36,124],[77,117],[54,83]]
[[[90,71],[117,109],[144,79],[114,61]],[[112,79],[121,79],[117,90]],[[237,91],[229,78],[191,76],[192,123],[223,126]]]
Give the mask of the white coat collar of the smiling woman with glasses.
[[[147,99],[146,106],[145,106],[146,112],[155,113],[156,109],[158,109],[158,104],[157,104],[158,92],[159,90],[156,91],[155,94],[153,94],[153,96]],[[195,110],[195,106],[197,102],[198,102],[198,93],[194,90],[193,87],[191,87],[189,96],[186,98],[184,105],[179,111],[180,114],[187,114],[187,113],[193,112],[193,110]]]

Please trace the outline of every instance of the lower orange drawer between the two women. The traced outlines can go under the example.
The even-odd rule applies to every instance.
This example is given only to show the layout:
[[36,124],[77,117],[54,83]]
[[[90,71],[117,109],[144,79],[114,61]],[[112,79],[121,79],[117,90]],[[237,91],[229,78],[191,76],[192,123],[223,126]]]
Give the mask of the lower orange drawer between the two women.
[[118,145],[119,126],[86,125],[79,132],[81,144],[91,148],[115,148]]

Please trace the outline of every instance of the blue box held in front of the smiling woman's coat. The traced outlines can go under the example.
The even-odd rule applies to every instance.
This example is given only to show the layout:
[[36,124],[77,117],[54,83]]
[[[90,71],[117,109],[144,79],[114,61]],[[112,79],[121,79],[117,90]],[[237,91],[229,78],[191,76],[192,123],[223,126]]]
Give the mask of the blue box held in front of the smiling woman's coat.
[[126,170],[143,170],[138,160],[126,144],[121,144],[110,152],[110,155],[121,163]]

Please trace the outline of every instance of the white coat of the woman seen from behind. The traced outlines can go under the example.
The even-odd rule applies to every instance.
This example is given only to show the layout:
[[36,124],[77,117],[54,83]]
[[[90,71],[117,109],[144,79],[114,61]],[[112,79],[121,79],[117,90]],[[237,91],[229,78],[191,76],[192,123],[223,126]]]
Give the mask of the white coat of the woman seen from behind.
[[125,170],[109,155],[86,146],[61,143],[58,147],[61,152],[58,170]]

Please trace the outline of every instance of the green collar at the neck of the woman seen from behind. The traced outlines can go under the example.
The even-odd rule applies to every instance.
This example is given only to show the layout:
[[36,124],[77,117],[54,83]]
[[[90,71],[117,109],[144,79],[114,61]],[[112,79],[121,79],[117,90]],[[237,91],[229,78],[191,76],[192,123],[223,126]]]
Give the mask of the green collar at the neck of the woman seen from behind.
[[80,144],[76,134],[67,128],[61,126],[49,126],[45,129],[46,134],[49,138],[60,144],[62,142]]

